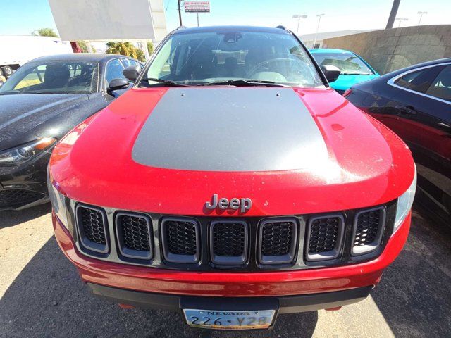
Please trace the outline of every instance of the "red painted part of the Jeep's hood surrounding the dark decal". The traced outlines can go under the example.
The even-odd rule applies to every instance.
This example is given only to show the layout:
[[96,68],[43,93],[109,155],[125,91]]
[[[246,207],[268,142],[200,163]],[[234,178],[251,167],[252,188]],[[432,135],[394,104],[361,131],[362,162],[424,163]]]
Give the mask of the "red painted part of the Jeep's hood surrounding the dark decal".
[[414,162],[407,146],[332,89],[293,89],[328,151],[326,160],[311,154],[307,168],[200,171],[137,163],[135,141],[168,90],[131,89],[62,139],[49,167],[58,189],[87,204],[133,211],[237,215],[204,208],[218,194],[251,198],[247,215],[293,215],[383,204],[412,183]]

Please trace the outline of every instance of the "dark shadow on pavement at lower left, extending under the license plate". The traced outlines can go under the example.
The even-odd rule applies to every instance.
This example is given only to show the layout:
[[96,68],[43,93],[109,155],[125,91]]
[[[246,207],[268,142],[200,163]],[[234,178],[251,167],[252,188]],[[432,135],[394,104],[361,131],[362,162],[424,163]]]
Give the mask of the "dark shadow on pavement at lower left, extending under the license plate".
[[[317,312],[280,315],[261,332],[212,332],[202,337],[311,337]],[[123,310],[89,294],[54,237],[0,300],[0,337],[200,337],[178,313]]]

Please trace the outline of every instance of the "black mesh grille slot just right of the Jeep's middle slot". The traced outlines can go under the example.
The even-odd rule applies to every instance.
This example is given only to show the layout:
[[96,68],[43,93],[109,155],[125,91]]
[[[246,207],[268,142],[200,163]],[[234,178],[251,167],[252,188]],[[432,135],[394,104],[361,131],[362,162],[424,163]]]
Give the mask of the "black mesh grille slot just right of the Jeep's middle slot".
[[264,256],[283,256],[290,253],[293,239],[290,222],[266,223],[261,234],[261,253]]

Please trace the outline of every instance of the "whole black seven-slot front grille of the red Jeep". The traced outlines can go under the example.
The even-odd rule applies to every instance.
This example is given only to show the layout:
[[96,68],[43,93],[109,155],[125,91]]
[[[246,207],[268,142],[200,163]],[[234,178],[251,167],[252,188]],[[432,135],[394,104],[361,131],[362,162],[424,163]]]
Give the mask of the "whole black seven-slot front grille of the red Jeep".
[[87,256],[187,270],[290,270],[378,256],[396,201],[375,208],[281,217],[137,213],[70,202],[69,228]]

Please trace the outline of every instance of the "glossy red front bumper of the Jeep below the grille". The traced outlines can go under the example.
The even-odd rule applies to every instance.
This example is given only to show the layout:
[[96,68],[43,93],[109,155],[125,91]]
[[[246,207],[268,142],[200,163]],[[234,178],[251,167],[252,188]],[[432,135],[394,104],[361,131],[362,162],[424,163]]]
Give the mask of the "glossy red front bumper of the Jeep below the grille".
[[182,296],[299,296],[338,292],[378,284],[383,270],[398,256],[410,227],[409,214],[380,256],[372,261],[331,268],[224,273],[147,268],[88,258],[76,249],[68,230],[53,215],[56,240],[78,268],[82,280],[137,292]]

